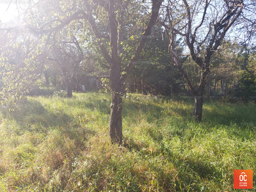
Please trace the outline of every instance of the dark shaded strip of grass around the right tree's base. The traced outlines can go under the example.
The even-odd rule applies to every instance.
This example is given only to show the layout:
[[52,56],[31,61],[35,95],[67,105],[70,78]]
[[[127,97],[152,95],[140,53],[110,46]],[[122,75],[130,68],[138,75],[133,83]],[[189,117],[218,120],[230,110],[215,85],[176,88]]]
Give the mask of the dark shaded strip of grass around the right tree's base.
[[[179,105],[173,106],[173,112],[182,116],[184,119],[193,121],[193,99],[182,97],[163,97],[162,100],[173,100],[174,102],[182,102],[188,109],[180,108]],[[248,125],[256,124],[256,107],[253,103],[228,102],[223,99],[204,99],[202,123],[211,122],[219,125]]]

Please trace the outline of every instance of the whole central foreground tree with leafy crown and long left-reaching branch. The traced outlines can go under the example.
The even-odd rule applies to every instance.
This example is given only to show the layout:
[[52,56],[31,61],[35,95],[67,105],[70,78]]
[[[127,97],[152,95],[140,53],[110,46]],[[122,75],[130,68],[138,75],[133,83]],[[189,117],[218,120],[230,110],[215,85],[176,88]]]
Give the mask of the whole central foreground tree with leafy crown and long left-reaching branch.
[[[54,1],[54,3],[49,3],[52,4],[51,8],[47,8],[44,2],[39,3],[38,7],[43,6],[44,9],[50,9],[51,12],[42,13],[44,17],[41,16],[43,18],[41,22],[35,22],[34,17],[29,16],[31,21],[28,22],[28,26],[34,26],[33,28],[38,26],[39,29],[42,29],[42,32],[38,33],[39,35],[44,33],[51,35],[54,31],[68,26],[73,20],[82,22],[84,28],[87,28],[86,24],[90,24],[102,56],[110,69],[109,81],[112,100],[109,136],[114,143],[122,144],[124,81],[138,61],[147,36],[150,35],[150,30],[157,20],[162,2],[163,0],[152,0],[151,8],[147,6],[148,2],[141,3],[131,0]],[[57,13],[56,10],[59,12]],[[148,13],[149,10],[150,13]],[[42,12],[42,9],[38,8],[36,13],[40,14],[39,12]],[[139,20],[134,18],[139,18]],[[136,38],[134,33],[139,38]],[[131,44],[137,44],[137,46],[132,46],[136,49],[129,49]],[[130,52],[125,54],[125,51],[126,53]]]

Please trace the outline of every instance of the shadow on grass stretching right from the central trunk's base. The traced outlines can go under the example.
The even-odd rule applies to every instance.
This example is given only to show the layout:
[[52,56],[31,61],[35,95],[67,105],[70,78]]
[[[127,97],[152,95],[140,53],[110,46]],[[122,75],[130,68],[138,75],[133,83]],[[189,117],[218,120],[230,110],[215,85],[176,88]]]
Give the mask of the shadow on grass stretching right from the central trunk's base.
[[[188,191],[188,188],[191,188],[192,191],[200,191],[201,187],[199,185],[202,180],[222,177],[221,170],[215,168],[214,165],[196,157],[186,157],[182,153],[172,151],[162,142],[159,144],[159,148],[150,151],[148,143],[124,137],[124,147],[130,151],[136,151],[142,159],[165,159],[164,161],[173,165],[173,170],[179,170],[174,176],[173,173],[166,172],[165,166],[159,166],[155,163],[148,164],[148,168],[156,172],[156,179],[160,186],[169,189],[171,187],[175,191]],[[190,186],[191,184],[193,186]],[[172,190],[170,189],[170,191]]]

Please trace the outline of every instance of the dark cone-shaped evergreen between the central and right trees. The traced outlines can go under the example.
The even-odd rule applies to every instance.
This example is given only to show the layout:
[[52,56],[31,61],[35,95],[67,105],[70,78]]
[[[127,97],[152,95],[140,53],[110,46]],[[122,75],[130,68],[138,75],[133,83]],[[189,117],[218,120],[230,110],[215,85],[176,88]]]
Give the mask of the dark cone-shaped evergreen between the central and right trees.
[[[168,52],[168,36],[161,29],[161,24],[156,24],[152,28],[148,39],[140,59],[131,73],[130,78],[136,81],[134,86],[137,85],[139,91],[143,86],[141,90],[143,93],[172,95],[183,92],[185,81],[179,70],[173,67],[172,56]],[[179,43],[177,40],[177,44]],[[177,51],[182,52],[182,47]],[[129,84],[129,87],[131,88],[132,85]],[[133,91],[136,92],[136,90]]]

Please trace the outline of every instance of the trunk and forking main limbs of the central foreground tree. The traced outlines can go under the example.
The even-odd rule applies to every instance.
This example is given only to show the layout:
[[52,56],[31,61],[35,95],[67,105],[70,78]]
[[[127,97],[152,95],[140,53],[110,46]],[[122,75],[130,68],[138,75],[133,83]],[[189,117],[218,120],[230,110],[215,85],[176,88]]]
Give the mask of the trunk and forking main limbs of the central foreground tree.
[[[85,2],[88,10],[92,8],[92,4],[90,4],[88,1]],[[109,17],[110,54],[106,50],[103,41],[100,38],[98,38],[100,51],[102,52],[102,55],[104,56],[105,60],[108,62],[110,67],[109,80],[111,83],[112,99],[110,106],[111,114],[109,120],[109,136],[111,137],[111,140],[113,142],[119,144],[122,144],[122,95],[125,91],[124,81],[127,77],[127,74],[131,72],[132,67],[134,67],[136,61],[138,60],[140,53],[143,49],[143,46],[145,45],[147,36],[150,35],[150,30],[154,26],[156,19],[158,17],[158,12],[162,0],[152,0],[151,15],[148,24],[145,27],[145,30],[143,30],[143,33],[141,33],[141,39],[136,49],[136,52],[132,56],[128,65],[123,70],[121,54],[122,40],[125,35],[125,24],[124,16],[122,14],[127,12],[129,1],[124,1],[122,3],[124,4],[121,4],[121,6],[119,6],[118,2],[109,0],[108,4],[105,4],[103,6],[103,8],[106,9],[106,12],[108,12]],[[90,25],[92,26],[93,33],[95,35],[98,35],[99,29],[97,28],[95,19],[93,19],[91,14],[92,12],[88,15],[88,22],[90,22]]]

